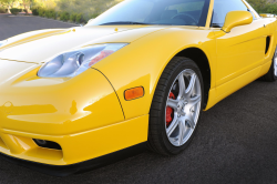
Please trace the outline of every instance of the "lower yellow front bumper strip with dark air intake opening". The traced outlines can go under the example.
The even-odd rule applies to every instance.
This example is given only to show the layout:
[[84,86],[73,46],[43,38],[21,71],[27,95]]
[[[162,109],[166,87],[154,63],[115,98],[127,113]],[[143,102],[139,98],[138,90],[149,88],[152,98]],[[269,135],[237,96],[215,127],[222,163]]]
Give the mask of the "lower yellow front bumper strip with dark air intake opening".
[[[48,165],[72,165],[147,141],[148,115],[69,135],[41,135],[0,130],[0,153]],[[33,139],[52,141],[62,150],[38,146]]]

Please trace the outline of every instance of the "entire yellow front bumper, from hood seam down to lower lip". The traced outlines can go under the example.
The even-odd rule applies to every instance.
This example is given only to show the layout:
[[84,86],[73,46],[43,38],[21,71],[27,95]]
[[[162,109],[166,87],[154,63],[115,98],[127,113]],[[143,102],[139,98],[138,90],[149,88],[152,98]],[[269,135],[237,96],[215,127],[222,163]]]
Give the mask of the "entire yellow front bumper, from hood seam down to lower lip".
[[[66,166],[147,140],[148,115],[124,120],[101,72],[90,69],[70,80],[41,79],[39,65],[2,60],[0,64],[23,71],[0,73],[0,153]],[[58,143],[61,150],[38,146],[33,139]]]

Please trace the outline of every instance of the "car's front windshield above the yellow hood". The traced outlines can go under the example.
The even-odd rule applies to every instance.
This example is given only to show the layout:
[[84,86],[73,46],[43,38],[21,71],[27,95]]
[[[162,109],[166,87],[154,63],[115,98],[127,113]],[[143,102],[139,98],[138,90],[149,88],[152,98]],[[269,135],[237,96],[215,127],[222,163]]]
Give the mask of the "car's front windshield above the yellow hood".
[[89,25],[173,24],[205,27],[209,0],[125,0]]

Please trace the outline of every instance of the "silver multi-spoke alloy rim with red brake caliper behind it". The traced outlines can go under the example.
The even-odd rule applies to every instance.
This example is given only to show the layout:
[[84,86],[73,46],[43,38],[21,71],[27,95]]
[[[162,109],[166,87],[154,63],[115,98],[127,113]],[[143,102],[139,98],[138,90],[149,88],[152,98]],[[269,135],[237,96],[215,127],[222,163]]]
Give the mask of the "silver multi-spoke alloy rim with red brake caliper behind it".
[[191,69],[182,71],[171,86],[165,109],[166,134],[174,146],[184,145],[192,136],[199,117],[201,102],[197,74]]

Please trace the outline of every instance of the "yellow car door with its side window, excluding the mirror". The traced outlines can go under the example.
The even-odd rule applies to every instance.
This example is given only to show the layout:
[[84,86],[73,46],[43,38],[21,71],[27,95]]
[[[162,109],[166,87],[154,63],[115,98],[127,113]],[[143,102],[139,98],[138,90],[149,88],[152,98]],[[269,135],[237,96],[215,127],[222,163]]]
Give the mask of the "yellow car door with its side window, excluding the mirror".
[[[263,19],[235,27],[229,33],[220,30],[229,11],[250,11],[242,0],[215,0],[212,27],[217,45],[217,96],[224,98],[255,80],[265,59],[269,30]],[[255,70],[256,69],[256,70]],[[233,81],[233,82],[232,82]]]

